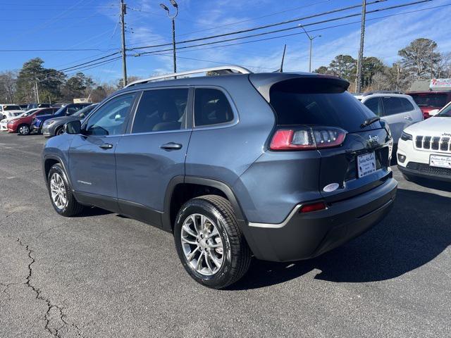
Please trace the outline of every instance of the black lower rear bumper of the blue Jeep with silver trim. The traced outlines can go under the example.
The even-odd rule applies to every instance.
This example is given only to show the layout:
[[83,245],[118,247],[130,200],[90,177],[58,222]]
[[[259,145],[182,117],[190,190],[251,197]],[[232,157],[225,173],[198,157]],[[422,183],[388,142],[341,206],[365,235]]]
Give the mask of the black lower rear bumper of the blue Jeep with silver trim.
[[359,236],[380,222],[395,201],[397,182],[389,178],[379,187],[326,210],[290,213],[280,225],[249,223],[245,234],[256,258],[298,261],[314,258]]

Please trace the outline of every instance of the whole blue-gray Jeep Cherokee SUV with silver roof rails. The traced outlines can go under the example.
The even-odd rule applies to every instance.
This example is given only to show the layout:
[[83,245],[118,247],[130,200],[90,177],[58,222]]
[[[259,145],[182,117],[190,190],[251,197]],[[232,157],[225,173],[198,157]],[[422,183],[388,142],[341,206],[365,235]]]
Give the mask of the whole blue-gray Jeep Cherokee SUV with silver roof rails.
[[56,212],[97,206],[172,232],[187,273],[217,289],[252,256],[312,258],[388,213],[390,130],[348,82],[236,66],[180,78],[200,71],[129,84],[50,139]]

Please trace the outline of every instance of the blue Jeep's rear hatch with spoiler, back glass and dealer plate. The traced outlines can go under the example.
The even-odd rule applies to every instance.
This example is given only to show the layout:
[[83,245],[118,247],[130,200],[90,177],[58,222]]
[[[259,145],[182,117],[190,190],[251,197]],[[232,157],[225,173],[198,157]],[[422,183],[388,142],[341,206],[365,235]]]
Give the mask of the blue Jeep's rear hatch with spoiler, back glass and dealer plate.
[[[268,93],[276,113],[276,132],[311,130],[313,149],[294,151],[319,152],[318,189],[328,202],[362,194],[392,175],[388,130],[379,121],[362,127],[376,115],[347,92],[348,85],[337,77],[310,75],[272,84]],[[340,144],[328,144],[337,138],[334,128],[345,135]]]

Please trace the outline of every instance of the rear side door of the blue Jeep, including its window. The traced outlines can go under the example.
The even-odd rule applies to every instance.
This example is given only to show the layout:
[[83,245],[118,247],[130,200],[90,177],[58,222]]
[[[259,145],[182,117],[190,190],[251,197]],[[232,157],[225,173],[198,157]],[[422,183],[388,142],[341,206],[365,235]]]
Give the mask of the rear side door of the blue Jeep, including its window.
[[190,89],[142,92],[128,133],[116,148],[121,213],[161,225],[169,182],[185,175],[192,132]]

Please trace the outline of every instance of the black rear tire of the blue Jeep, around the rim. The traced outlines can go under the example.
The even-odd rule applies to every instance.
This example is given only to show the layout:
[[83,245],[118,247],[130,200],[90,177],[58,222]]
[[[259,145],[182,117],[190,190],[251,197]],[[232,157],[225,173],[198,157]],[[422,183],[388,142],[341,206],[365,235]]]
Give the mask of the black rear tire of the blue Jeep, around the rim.
[[[187,261],[181,242],[182,226],[190,215],[201,214],[213,220],[223,244],[221,268],[214,275],[204,275]],[[200,196],[187,201],[178,212],[174,226],[175,249],[187,273],[196,281],[212,289],[223,289],[240,280],[251,263],[251,251],[233,208],[227,199],[216,195]]]

